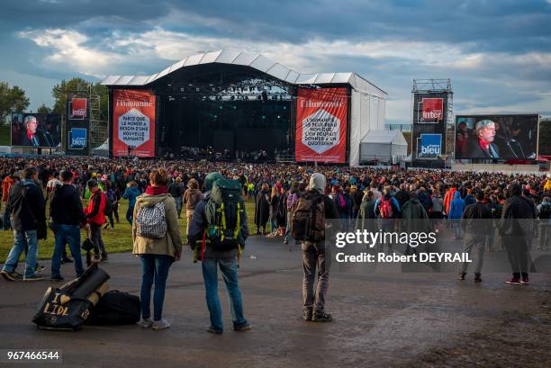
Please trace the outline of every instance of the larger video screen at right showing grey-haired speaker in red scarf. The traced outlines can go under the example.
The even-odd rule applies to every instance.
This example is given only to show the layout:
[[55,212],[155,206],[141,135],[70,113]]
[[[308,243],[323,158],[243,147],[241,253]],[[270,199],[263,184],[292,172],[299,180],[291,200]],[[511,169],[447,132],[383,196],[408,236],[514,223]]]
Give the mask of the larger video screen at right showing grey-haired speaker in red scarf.
[[536,158],[537,114],[456,116],[456,158]]

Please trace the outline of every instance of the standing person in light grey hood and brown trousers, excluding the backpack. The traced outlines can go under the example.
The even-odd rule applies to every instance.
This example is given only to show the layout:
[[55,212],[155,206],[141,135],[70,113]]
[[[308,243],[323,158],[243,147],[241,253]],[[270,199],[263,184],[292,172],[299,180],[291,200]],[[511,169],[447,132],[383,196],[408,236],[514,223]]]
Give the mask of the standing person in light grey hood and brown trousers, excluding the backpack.
[[[335,202],[324,194],[325,176],[313,173],[306,188],[306,199],[323,197],[325,220],[332,220],[333,226],[339,226],[339,211]],[[300,201],[300,200],[299,200]],[[335,229],[336,230],[336,229]],[[325,237],[328,237],[327,230]],[[325,295],[329,288],[330,249],[326,249],[325,239],[318,242],[303,242],[303,319],[314,322],[330,322],[332,317],[325,312]],[[316,266],[318,266],[318,283],[315,287]]]

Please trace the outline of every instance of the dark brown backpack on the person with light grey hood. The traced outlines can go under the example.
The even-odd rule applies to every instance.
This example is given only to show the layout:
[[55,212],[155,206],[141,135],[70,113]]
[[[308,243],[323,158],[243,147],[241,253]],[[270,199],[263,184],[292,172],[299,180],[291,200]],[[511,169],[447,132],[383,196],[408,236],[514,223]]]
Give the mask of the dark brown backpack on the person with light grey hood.
[[325,204],[322,195],[299,197],[291,217],[291,233],[299,241],[320,241],[325,238]]

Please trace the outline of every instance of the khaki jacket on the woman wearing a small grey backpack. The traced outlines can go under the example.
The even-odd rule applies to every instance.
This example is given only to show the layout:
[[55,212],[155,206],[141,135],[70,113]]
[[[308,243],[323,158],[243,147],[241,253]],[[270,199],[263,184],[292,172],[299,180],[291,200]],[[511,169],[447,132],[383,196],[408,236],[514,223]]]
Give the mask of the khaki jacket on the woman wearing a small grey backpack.
[[136,221],[132,223],[132,240],[134,255],[165,255],[174,257],[176,252],[182,252],[182,239],[180,238],[180,229],[178,228],[178,214],[176,212],[176,202],[170,194],[141,194],[136,198],[134,207],[134,219],[138,217],[138,211],[141,206],[154,206],[158,202],[165,203],[165,219],[167,220],[167,234],[164,238],[149,239],[136,235]]

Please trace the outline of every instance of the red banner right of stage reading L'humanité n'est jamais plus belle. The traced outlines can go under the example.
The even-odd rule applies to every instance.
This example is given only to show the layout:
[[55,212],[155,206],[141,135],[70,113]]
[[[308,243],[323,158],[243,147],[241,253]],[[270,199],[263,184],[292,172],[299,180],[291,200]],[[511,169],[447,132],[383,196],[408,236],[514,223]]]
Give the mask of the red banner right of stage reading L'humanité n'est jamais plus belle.
[[294,159],[342,164],[347,159],[346,88],[299,88]]

